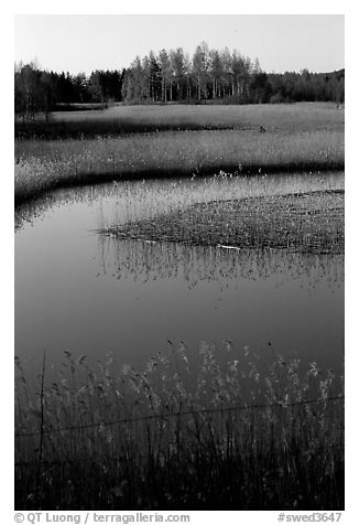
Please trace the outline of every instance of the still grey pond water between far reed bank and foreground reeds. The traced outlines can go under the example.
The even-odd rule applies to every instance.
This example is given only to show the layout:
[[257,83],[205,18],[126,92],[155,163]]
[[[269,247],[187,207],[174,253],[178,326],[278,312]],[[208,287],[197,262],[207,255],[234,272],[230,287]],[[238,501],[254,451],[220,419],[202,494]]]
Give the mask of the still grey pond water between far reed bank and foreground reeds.
[[[294,213],[301,196],[306,200]],[[248,236],[240,246],[230,237],[202,243],[192,234],[182,242],[163,233],[178,214],[182,221],[187,213],[188,232],[198,214],[206,225],[209,212],[222,218],[221,203],[229,231],[233,202],[247,210],[264,200],[273,213],[283,197],[291,199],[284,222],[279,216],[285,239],[304,225],[301,235],[295,231],[295,245]],[[119,366],[141,367],[171,344],[183,342],[196,355],[203,341],[219,349],[230,341],[239,353],[265,353],[270,344],[303,363],[337,368],[344,354],[342,197],[344,173],[149,180],[52,192],[15,213],[15,354],[36,375],[44,350],[52,364],[63,361],[64,351],[91,364],[110,352]],[[263,217],[255,217],[262,238]],[[247,218],[240,217],[241,232]],[[308,245],[304,238],[317,240]]]

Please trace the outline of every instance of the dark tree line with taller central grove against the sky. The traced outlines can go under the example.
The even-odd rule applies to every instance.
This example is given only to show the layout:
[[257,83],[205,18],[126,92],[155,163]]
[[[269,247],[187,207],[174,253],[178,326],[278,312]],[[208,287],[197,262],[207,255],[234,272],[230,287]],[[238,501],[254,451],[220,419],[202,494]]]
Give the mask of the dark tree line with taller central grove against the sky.
[[15,114],[32,119],[73,104],[266,104],[336,101],[345,98],[345,71],[265,73],[259,61],[239,51],[210,50],[203,42],[193,54],[182,47],[137,56],[127,68],[54,73],[36,64],[14,72]]

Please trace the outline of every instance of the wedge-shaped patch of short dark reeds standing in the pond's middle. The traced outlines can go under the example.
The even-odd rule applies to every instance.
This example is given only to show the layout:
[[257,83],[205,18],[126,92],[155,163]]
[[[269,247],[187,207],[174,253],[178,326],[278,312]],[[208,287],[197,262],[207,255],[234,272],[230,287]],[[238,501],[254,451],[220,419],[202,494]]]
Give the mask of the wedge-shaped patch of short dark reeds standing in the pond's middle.
[[156,217],[113,225],[110,237],[222,249],[285,248],[344,254],[344,191],[316,191],[193,204]]

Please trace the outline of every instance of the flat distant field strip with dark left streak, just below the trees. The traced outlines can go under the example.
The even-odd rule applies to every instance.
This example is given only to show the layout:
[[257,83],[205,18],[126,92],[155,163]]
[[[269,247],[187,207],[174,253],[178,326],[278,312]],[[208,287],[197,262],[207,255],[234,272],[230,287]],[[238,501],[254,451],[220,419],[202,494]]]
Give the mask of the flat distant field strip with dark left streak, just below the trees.
[[249,106],[116,106],[109,109],[56,111],[50,121],[17,122],[15,136],[81,138],[98,135],[200,129],[258,129],[297,132],[342,130],[344,110],[331,103]]

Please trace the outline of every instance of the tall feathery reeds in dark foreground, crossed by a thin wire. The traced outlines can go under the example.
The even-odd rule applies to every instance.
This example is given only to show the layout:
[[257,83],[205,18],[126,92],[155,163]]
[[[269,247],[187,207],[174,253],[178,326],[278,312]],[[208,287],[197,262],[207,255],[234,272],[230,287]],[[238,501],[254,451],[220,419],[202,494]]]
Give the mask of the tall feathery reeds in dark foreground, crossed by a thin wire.
[[116,373],[67,353],[39,392],[18,361],[15,508],[344,508],[342,376],[270,343],[200,356],[168,342]]

